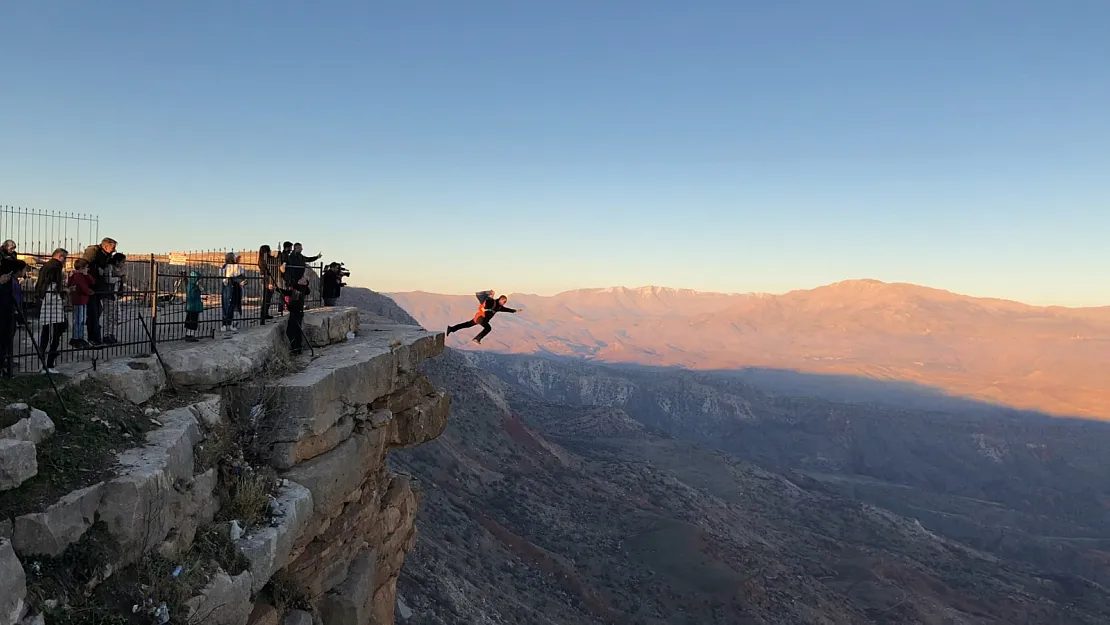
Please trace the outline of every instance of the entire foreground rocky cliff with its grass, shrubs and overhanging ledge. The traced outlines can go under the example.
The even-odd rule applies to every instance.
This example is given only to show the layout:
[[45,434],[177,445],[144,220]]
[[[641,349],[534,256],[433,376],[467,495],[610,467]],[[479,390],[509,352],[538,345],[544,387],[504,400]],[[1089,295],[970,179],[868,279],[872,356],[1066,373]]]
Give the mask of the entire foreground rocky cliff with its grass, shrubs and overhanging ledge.
[[[450,399],[417,372],[443,334],[355,309],[310,313],[305,334],[300,357],[278,323],[101,364],[64,406],[11,406],[0,625],[393,623],[420,496],[386,455],[446,426]],[[90,422],[108,434],[82,433],[82,454],[67,430]],[[89,464],[117,427],[143,444]]]

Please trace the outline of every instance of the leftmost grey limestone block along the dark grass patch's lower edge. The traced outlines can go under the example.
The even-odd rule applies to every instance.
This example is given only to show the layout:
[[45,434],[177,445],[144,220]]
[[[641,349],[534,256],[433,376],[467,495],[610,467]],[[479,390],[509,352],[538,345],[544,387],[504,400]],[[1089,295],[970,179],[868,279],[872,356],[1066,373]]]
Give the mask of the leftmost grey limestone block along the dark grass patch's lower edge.
[[92,526],[103,488],[103,482],[93,484],[73,491],[44,512],[17,517],[12,537],[16,552],[24,557],[61,555]]

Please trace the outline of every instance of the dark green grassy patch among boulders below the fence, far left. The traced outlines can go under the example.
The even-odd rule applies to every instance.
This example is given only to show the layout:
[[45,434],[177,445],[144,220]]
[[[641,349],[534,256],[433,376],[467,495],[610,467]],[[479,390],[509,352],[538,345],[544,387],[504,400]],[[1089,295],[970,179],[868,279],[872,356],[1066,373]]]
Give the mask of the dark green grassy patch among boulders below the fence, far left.
[[112,476],[120,452],[139,446],[153,429],[142,409],[95,382],[60,390],[69,413],[43,376],[0,382],[0,401],[46,411],[57,432],[38,446],[39,474],[0,493],[0,518],[42,512],[62,495]]

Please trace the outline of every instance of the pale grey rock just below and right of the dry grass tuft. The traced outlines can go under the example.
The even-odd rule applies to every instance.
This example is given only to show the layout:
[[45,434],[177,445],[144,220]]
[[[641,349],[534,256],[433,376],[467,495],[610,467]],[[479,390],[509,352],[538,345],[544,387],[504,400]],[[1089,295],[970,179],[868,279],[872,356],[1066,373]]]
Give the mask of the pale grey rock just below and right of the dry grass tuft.
[[252,594],[258,594],[278,569],[290,562],[293,544],[312,517],[312,493],[295,482],[278,492],[278,525],[243,536],[239,550],[251,563]]

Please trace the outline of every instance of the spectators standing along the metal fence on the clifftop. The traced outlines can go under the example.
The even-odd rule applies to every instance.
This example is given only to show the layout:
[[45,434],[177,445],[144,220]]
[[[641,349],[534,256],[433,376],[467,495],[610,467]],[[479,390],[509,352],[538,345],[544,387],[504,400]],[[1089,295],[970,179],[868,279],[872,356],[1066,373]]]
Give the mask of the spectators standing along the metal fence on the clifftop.
[[[33,288],[28,286],[33,289],[33,299],[38,302],[39,331],[34,333],[28,320],[23,293],[24,279],[32,266],[20,259],[14,241],[0,244],[0,375],[14,373],[16,336],[23,329],[34,340],[43,373],[58,373],[54,366],[67,333],[70,335],[69,346],[74,350],[99,350],[119,343],[115,333],[121,323],[120,301],[127,283],[127,256],[117,252],[117,245],[115,240],[105,238],[98,245],[85,248],[79,258],[72,259],[71,265],[68,264],[71,260],[68,250],[59,248],[53,251],[50,259],[38,268]],[[303,317],[310,295],[306,272],[310,264],[321,258],[322,254],[305,256],[301,243],[287,241],[278,252],[269,245],[259,250],[258,271],[262,284],[259,321],[264,324],[274,319],[274,303],[278,314],[289,311],[286,334],[294,353],[300,353],[304,344]],[[67,266],[71,268],[68,272]],[[324,268],[320,275],[320,295],[325,305],[337,303],[346,275],[350,273],[342,263]],[[184,278],[184,330],[185,341],[189,342],[199,340],[201,316],[205,310],[204,278],[211,276],[191,271]],[[239,254],[225,255],[218,279],[221,331],[225,334],[238,332],[248,281]]]

